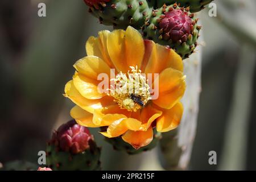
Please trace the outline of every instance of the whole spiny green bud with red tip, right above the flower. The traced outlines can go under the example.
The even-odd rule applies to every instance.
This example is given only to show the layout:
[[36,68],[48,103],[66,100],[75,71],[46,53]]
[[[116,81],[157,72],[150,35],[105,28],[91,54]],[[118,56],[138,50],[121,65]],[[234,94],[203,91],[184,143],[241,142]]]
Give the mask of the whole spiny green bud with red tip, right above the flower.
[[161,45],[170,46],[183,59],[194,52],[197,46],[200,26],[195,14],[189,8],[163,5],[152,11],[152,16],[142,27],[144,39],[154,40]]

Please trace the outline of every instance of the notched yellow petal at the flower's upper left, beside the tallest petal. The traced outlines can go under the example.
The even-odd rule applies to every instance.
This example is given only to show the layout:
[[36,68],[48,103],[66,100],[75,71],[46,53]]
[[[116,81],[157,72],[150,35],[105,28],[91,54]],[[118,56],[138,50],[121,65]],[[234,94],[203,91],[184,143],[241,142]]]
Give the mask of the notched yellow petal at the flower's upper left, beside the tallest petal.
[[91,36],[85,44],[85,49],[88,56],[100,57],[109,65],[110,68],[113,68],[106,44],[109,33],[110,31],[103,30],[98,32],[98,38]]

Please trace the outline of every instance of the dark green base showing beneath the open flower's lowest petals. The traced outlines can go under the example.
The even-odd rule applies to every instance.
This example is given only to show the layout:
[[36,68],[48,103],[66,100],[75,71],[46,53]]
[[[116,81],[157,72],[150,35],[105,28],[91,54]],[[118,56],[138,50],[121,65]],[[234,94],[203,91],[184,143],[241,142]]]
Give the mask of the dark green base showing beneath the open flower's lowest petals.
[[105,140],[108,143],[112,144],[114,150],[126,151],[127,154],[134,155],[134,154],[139,154],[141,152],[148,151],[148,150],[155,148],[155,146],[158,144],[158,141],[161,138],[162,138],[161,133],[154,131],[154,139],[152,140],[152,142],[145,147],[139,148],[138,150],[133,148],[129,143],[126,143],[125,141],[123,141],[123,139],[121,137],[115,137],[115,138],[106,138],[105,137]]

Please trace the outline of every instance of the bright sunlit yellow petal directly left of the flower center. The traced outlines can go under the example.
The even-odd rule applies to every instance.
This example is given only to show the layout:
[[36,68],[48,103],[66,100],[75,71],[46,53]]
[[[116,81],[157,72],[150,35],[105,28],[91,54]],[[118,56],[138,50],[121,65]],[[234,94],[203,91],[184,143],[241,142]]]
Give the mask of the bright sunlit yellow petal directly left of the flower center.
[[104,93],[98,91],[98,81],[92,80],[79,73],[75,73],[73,76],[73,83],[80,94],[88,99],[98,99],[105,96]]

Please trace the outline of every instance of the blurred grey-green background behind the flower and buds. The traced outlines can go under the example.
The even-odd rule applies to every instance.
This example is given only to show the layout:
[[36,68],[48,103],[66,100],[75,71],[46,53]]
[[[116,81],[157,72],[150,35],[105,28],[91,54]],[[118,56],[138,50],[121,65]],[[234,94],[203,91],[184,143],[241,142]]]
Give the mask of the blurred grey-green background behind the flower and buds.
[[[46,3],[46,17],[38,3]],[[188,169],[256,169],[256,7],[254,0],[216,0],[217,17],[200,13],[203,70],[200,111]],[[0,2],[0,162],[37,162],[53,129],[67,122],[62,94],[85,42],[103,26],[82,0]],[[158,148],[129,156],[104,142],[103,169],[162,170]],[[217,152],[209,165],[208,152]]]

